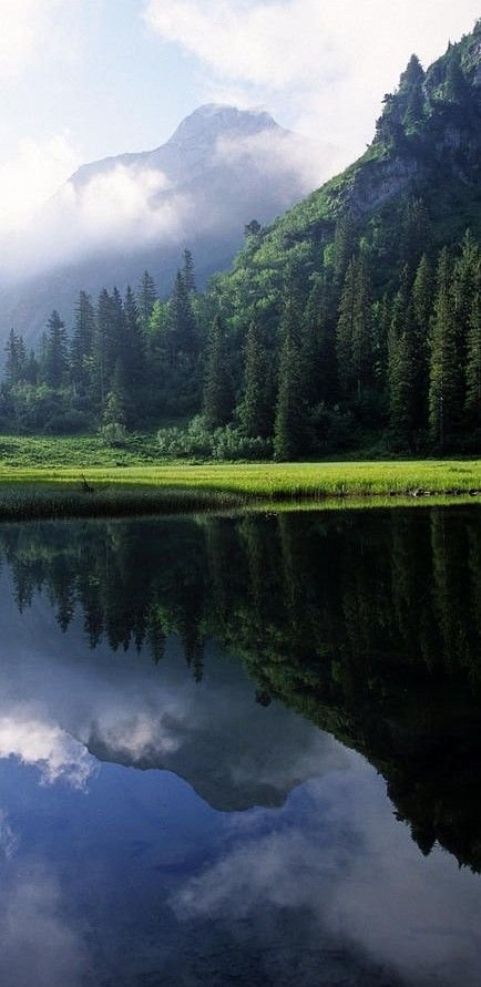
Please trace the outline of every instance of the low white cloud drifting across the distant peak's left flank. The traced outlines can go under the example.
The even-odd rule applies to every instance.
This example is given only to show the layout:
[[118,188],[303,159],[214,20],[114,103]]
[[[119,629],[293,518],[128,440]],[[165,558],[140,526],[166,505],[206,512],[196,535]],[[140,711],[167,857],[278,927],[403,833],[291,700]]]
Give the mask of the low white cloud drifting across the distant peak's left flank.
[[[10,203],[0,214],[0,257],[6,277],[22,273],[31,276],[104,250],[125,254],[152,241],[182,241],[192,223],[193,204],[190,196],[170,188],[162,172],[119,164],[83,185],[62,184],[72,173],[71,165],[65,165],[68,147],[64,150],[59,168],[49,169],[48,155],[39,155],[45,167],[39,167],[34,187],[30,187],[28,177],[34,153],[17,173],[17,182],[14,168],[4,168],[12,191]],[[1,174],[0,166],[0,183]],[[47,189],[57,194],[45,202]]]

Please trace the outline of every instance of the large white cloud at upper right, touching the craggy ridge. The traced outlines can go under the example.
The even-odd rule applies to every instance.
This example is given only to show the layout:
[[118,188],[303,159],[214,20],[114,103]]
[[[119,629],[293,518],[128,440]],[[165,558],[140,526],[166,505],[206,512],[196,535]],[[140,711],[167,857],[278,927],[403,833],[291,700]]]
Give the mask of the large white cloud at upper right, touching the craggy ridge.
[[412,51],[426,63],[440,55],[471,30],[479,0],[149,0],[144,16],[203,63],[211,96],[244,89],[306,135],[336,143],[340,167],[370,140]]

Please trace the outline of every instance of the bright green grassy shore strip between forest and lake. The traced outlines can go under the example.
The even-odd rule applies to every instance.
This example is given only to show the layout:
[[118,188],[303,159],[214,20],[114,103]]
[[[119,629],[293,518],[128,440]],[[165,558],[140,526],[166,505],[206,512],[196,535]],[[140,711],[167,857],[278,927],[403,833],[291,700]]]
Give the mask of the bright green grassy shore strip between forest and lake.
[[481,503],[481,461],[1,467],[0,521]]

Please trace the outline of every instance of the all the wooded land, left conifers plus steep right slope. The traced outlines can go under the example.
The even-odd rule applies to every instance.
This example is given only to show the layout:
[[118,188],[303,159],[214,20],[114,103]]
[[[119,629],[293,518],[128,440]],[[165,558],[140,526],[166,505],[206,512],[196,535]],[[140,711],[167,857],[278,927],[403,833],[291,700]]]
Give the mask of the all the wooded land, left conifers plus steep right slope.
[[481,22],[424,73],[413,55],[366,154],[195,289],[79,299],[42,350],[8,343],[19,430],[173,422],[164,454],[279,460],[481,445]]

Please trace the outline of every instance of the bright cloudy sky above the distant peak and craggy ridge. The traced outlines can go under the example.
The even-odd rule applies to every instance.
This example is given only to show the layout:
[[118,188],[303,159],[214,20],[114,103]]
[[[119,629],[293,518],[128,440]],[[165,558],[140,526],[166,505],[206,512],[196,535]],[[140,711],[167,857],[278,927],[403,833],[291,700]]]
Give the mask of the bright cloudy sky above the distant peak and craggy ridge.
[[83,162],[150,150],[205,102],[263,106],[329,148],[370,141],[409,55],[470,31],[479,0],[0,0],[0,232]]

